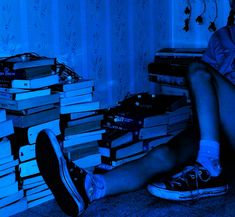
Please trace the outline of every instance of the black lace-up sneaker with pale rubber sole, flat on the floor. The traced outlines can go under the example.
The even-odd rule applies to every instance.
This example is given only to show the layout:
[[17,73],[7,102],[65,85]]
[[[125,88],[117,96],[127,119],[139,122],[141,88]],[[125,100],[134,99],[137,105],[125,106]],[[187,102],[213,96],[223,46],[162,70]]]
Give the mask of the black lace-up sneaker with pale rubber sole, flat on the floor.
[[227,190],[228,185],[222,176],[212,177],[198,163],[186,167],[168,180],[148,185],[148,191],[154,196],[179,201],[219,196],[225,194]]

